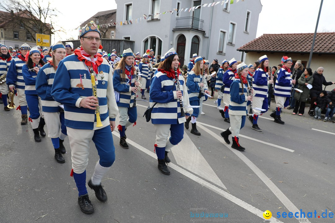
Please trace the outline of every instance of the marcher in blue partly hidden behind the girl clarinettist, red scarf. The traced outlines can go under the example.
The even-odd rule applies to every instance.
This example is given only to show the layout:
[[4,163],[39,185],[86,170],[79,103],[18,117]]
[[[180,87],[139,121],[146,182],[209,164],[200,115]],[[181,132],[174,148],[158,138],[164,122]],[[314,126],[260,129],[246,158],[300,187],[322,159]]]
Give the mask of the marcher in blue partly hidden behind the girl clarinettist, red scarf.
[[230,123],[229,119],[229,104],[230,104],[230,85],[235,79],[235,73],[237,68],[237,61],[235,58],[231,59],[229,62],[229,68],[224,72],[222,77],[222,82],[224,84],[222,100],[224,103],[224,121]]

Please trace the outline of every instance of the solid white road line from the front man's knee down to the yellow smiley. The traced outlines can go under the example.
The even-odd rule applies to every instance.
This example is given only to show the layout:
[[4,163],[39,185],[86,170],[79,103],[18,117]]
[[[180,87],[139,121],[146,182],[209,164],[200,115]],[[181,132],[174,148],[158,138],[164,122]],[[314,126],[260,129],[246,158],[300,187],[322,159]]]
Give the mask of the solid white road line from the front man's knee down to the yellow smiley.
[[[114,131],[114,132],[112,132],[112,133],[113,133],[115,136],[120,137],[120,134],[119,134],[118,132]],[[141,150],[142,152],[144,152],[144,153],[148,154],[149,156],[153,157],[155,160],[157,160],[157,156],[156,156],[155,153],[149,151],[148,149],[144,148],[143,146],[137,144],[136,142],[134,142],[134,141],[132,141],[132,140],[130,140],[130,139],[128,139],[128,138],[127,138],[127,142],[128,142],[129,144],[131,144],[132,146],[138,148],[138,149]],[[202,180],[201,178],[199,178],[199,177],[197,177],[197,176],[191,174],[190,172],[188,172],[188,171],[186,171],[186,170],[180,168],[179,166],[177,166],[176,164],[173,164],[172,162],[169,163],[169,168],[171,168],[171,169],[173,169],[173,170],[175,170],[175,171],[181,173],[181,174],[184,175],[185,177],[188,177],[189,179],[191,179],[191,180],[193,180],[193,181],[199,183],[200,185],[202,185],[202,186],[204,186],[204,187],[210,189],[211,191],[217,193],[218,195],[220,195],[220,196],[226,198],[227,200],[229,200],[229,201],[231,201],[231,202],[233,202],[233,203],[239,205],[240,207],[242,207],[242,208],[246,209],[247,211],[251,212],[252,214],[255,214],[255,215],[257,215],[258,217],[264,219],[264,218],[263,218],[263,213],[264,213],[264,211],[261,211],[261,210],[255,208],[254,206],[252,206],[252,205],[250,205],[250,204],[248,204],[248,203],[242,201],[241,199],[239,199],[239,198],[237,198],[237,197],[235,197],[235,196],[229,194],[228,192],[225,192],[225,191],[223,191],[222,189],[220,189],[220,188],[218,188],[218,187],[216,187],[216,186],[214,186],[214,185],[208,183],[207,181]],[[279,221],[278,219],[276,219],[276,218],[274,218],[274,217],[271,217],[270,220],[273,220],[273,222],[283,223],[283,222]]]

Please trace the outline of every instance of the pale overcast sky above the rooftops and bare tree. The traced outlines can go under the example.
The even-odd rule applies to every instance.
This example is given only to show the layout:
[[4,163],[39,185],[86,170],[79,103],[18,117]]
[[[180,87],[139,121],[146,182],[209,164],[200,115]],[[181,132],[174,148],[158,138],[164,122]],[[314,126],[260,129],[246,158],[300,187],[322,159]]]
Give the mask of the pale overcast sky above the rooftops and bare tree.
[[[142,1],[147,2],[148,0]],[[254,2],[258,0],[245,0],[245,2],[247,1]],[[78,1],[52,1],[53,7],[57,8],[61,13],[60,16],[58,16],[56,23],[67,30],[66,34],[57,32],[55,37],[51,40],[52,43],[54,43],[54,40],[65,40],[71,36],[76,39],[78,31],[74,29],[82,22],[98,11],[116,9],[117,7],[114,0],[93,2],[94,6],[91,6],[91,0],[82,0],[80,1],[80,5],[78,4]],[[209,2],[212,1],[203,0],[203,4]],[[236,7],[238,4],[244,4],[245,2],[241,1],[234,3],[230,7]],[[314,32],[320,2],[321,0],[261,0],[263,8],[259,15],[256,37],[259,37],[264,33]],[[334,0],[323,1],[318,32],[335,32],[334,9]],[[55,28],[58,29],[57,25],[55,25]]]

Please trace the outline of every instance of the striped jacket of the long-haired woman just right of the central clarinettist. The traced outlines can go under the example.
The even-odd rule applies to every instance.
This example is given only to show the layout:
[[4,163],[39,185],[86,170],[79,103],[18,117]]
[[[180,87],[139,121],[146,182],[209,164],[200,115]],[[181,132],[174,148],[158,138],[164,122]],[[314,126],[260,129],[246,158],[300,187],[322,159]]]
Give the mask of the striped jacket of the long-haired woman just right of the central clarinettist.
[[[199,92],[200,92],[200,84],[202,81],[202,75],[196,75],[194,71],[191,71],[187,78],[187,93],[189,95],[189,101],[199,101]],[[205,84],[206,83],[206,84]],[[208,90],[207,81],[204,80],[203,91]],[[205,100],[205,95],[201,97],[202,100]]]

